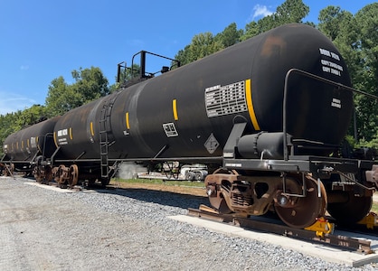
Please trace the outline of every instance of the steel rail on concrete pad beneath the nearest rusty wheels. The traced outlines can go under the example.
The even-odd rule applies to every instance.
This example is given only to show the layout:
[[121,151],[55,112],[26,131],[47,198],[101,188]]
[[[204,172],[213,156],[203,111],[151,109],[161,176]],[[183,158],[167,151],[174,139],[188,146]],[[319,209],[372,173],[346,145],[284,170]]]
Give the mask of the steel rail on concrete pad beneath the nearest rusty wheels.
[[[352,238],[342,234],[321,233],[316,230],[293,229],[280,224],[279,220],[260,218],[247,218],[237,214],[220,214],[207,206],[200,206],[200,209],[189,209],[188,215],[204,220],[213,220],[243,229],[252,229],[297,238],[307,241],[315,241],[326,246],[345,248],[362,254],[373,254],[372,242],[368,239]],[[364,232],[364,234],[369,234]],[[376,236],[373,234],[373,236]]]

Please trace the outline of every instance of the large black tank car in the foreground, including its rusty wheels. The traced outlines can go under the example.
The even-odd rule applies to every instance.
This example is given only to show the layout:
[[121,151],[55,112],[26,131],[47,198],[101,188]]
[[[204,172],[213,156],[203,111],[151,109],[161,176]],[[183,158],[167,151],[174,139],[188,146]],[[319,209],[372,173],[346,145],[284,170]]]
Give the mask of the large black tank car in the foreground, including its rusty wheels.
[[340,152],[350,86],[326,36],[284,25],[66,113],[53,128],[52,173],[107,184],[123,161],[217,164],[205,180],[215,210],[272,210],[295,228],[328,210],[354,223],[371,209],[378,164]]

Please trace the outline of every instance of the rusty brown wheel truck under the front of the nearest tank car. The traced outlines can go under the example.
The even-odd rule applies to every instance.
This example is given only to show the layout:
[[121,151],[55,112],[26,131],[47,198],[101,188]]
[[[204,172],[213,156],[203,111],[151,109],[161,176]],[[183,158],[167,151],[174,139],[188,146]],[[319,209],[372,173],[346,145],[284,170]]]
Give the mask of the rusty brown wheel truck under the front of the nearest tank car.
[[214,173],[207,175],[205,186],[211,205],[220,213],[259,216],[274,206],[285,224],[304,229],[325,215],[326,189],[312,178],[303,176],[302,182],[306,183],[300,178],[290,174],[283,182],[280,176]]

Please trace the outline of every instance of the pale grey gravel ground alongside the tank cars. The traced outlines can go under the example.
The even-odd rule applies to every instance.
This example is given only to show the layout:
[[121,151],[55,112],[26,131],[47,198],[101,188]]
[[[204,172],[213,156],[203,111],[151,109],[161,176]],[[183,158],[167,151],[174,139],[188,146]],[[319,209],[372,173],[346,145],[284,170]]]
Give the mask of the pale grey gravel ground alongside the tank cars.
[[208,204],[148,190],[55,192],[0,177],[0,270],[376,270],[167,217]]

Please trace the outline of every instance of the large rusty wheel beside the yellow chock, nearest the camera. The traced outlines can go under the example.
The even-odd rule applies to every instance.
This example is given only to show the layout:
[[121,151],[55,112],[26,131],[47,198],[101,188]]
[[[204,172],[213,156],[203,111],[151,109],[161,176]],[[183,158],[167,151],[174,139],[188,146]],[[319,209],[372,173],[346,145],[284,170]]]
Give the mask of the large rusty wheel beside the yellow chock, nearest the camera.
[[[318,197],[317,182],[305,178],[306,197],[284,196],[280,194],[275,202],[275,210],[279,218],[288,226],[304,229],[314,224],[318,217],[326,213],[326,189],[320,182],[320,197]],[[301,194],[302,182],[288,178],[287,192]]]

